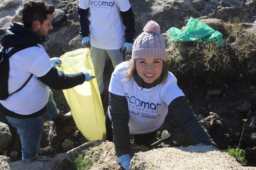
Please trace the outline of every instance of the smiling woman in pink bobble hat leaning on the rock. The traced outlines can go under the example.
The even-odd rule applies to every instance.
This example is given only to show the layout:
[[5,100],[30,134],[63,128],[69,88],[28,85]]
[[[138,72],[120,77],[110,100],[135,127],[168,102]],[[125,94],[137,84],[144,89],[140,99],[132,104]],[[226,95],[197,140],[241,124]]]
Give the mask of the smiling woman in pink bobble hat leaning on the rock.
[[129,135],[134,143],[150,146],[168,112],[191,144],[217,147],[168,72],[159,25],[149,21],[143,31],[134,41],[132,59],[116,66],[109,85],[107,140],[114,137],[117,162],[125,170],[131,161]]

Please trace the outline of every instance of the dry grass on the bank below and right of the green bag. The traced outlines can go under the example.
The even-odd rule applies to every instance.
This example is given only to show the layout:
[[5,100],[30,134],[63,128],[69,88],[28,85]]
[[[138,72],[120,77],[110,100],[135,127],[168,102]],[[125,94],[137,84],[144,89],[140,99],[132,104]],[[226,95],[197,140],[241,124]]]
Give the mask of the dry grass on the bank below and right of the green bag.
[[247,31],[250,24],[232,19],[223,23],[223,26],[226,29],[223,47],[219,47],[213,41],[193,44],[173,42],[174,47],[171,50],[167,48],[167,62],[171,65],[172,71],[185,72],[191,67],[228,74],[238,68],[241,75],[244,72],[256,71],[256,34]]

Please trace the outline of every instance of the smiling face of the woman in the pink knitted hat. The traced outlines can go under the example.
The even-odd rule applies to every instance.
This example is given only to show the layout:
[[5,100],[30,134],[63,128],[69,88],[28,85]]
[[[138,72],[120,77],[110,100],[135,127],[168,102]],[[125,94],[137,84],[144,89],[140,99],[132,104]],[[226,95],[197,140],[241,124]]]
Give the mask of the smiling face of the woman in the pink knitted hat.
[[142,57],[135,61],[139,76],[146,83],[154,82],[163,71],[163,59],[155,57]]

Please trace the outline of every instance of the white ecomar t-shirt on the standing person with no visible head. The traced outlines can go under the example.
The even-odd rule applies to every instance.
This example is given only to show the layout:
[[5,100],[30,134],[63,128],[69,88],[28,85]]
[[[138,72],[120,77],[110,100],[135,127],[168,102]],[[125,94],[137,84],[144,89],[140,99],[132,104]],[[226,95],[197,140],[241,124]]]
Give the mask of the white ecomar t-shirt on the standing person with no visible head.
[[79,7],[90,7],[90,34],[93,47],[106,50],[123,47],[125,26],[120,11],[129,10],[129,0],[80,0]]

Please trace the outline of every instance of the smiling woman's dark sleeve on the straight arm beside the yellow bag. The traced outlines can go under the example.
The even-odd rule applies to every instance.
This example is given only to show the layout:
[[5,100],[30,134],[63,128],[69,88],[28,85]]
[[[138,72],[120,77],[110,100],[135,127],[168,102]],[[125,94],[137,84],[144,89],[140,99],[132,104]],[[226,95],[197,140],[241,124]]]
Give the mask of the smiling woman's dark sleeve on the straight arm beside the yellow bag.
[[109,92],[109,112],[111,115],[116,156],[130,152],[129,111],[125,96]]

